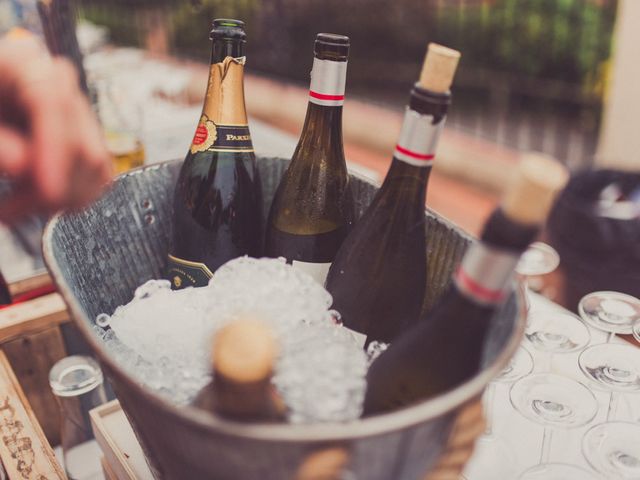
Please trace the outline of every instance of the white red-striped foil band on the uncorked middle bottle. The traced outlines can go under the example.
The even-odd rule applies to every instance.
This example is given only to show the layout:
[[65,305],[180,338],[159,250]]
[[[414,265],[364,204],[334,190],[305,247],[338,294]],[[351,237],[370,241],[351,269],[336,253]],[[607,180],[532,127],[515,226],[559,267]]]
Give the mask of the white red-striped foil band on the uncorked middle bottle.
[[313,59],[309,101],[325,107],[344,104],[344,87],[347,81],[347,62]]

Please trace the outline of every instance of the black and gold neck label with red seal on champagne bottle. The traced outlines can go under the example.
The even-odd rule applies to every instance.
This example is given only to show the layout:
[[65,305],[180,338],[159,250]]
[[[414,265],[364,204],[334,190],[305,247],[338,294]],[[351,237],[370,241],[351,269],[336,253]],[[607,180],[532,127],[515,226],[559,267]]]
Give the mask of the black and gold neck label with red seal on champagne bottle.
[[198,152],[253,152],[249,126],[216,125],[202,115],[191,142],[191,153]]

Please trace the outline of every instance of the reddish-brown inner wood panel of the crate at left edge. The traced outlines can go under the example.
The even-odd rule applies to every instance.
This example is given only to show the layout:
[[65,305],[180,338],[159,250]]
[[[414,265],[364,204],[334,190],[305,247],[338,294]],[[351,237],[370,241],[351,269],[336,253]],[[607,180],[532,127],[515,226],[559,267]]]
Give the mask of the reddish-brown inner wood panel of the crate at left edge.
[[49,371],[67,355],[58,326],[25,335],[2,345],[16,377],[49,442],[60,442],[60,413],[49,386]]

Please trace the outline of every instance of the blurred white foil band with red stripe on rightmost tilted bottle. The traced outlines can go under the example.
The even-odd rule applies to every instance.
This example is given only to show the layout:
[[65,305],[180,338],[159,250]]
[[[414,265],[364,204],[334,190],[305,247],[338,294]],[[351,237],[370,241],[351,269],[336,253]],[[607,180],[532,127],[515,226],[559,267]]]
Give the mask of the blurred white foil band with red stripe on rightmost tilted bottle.
[[454,276],[458,290],[482,305],[501,303],[509,291],[513,272],[518,264],[513,252],[474,243],[465,253]]

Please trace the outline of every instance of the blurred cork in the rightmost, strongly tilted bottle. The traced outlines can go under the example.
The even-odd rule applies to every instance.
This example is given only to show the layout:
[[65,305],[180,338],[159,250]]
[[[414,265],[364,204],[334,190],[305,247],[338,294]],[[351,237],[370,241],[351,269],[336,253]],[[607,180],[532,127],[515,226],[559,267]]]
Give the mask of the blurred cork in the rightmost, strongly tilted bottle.
[[539,225],[547,218],[556,195],[568,179],[567,169],[552,157],[524,153],[502,199],[502,210],[518,223]]

